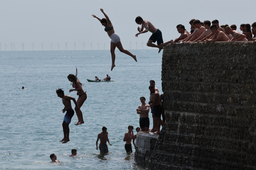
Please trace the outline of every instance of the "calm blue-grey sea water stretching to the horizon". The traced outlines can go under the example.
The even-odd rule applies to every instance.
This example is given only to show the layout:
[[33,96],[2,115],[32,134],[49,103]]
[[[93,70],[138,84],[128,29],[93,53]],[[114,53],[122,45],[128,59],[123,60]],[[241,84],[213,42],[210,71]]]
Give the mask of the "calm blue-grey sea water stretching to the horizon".
[[[109,50],[102,51],[10,51],[0,52],[0,169],[146,169],[124,149],[128,125],[139,126],[136,109],[140,97],[149,100],[149,81],[155,80],[162,93],[162,53],[157,50],[131,50],[132,57],[116,50],[116,67],[111,68]],[[76,114],[69,124],[70,141],[63,138],[64,108],[56,89],[75,97],[68,81],[75,74],[84,84],[87,100],[81,107],[84,124]],[[88,82],[109,74],[114,82]],[[24,86],[25,89],[21,89]],[[75,104],[72,102],[72,107]],[[152,128],[152,117],[150,117]],[[108,128],[109,154],[101,156],[96,139],[102,126]],[[99,141],[100,143],[100,141]],[[71,149],[77,157],[68,157]],[[49,163],[55,153],[59,164]]]

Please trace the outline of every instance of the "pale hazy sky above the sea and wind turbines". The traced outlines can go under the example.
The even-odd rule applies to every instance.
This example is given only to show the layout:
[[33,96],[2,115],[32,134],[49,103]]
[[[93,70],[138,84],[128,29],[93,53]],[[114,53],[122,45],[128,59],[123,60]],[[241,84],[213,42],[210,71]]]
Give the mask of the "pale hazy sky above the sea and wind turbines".
[[[255,0],[246,4],[236,0],[0,0],[1,51],[24,50],[110,50],[110,38],[104,26],[92,14],[104,18],[100,8],[108,15],[123,47],[147,47],[150,32],[137,38],[137,16],[150,21],[169,41],[180,36],[176,25],[190,31],[190,19],[200,21],[218,19],[219,25],[252,24]],[[246,7],[246,8],[243,8]],[[43,45],[42,45],[43,44]],[[66,46],[67,44],[67,46]],[[15,48],[15,49],[14,49]]]

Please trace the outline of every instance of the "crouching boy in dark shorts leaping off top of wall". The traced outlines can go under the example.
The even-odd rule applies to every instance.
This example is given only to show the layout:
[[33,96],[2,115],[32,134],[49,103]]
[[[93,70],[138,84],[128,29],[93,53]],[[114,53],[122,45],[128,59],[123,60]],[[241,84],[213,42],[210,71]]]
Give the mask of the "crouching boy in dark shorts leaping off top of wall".
[[[160,51],[164,48],[164,46],[171,43],[171,41],[167,41],[164,43],[162,32],[159,29],[157,29],[151,22],[147,20],[143,20],[140,16],[136,17],[135,22],[138,25],[141,25],[141,28],[138,26],[139,33],[137,33],[135,37],[138,37],[139,34],[146,33],[148,31],[152,32],[152,35],[148,40],[147,46],[159,48],[158,53],[160,53]],[[144,28],[145,30],[143,31]],[[155,43],[156,41],[157,41],[157,45],[153,44],[153,42]]]

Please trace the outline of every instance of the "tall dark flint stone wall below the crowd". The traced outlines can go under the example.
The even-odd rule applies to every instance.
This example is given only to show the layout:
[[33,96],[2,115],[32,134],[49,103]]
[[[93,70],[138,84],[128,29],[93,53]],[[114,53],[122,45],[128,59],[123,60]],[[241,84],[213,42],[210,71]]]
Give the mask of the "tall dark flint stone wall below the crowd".
[[148,169],[256,169],[256,44],[164,47],[166,123]]

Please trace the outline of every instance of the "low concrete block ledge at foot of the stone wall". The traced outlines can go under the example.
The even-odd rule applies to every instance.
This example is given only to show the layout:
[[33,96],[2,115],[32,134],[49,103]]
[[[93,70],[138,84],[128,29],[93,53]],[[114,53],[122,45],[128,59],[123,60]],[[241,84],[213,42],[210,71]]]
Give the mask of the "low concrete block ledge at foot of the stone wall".
[[139,165],[148,166],[149,159],[156,145],[158,135],[152,132],[138,132],[136,137],[136,150],[134,160]]

